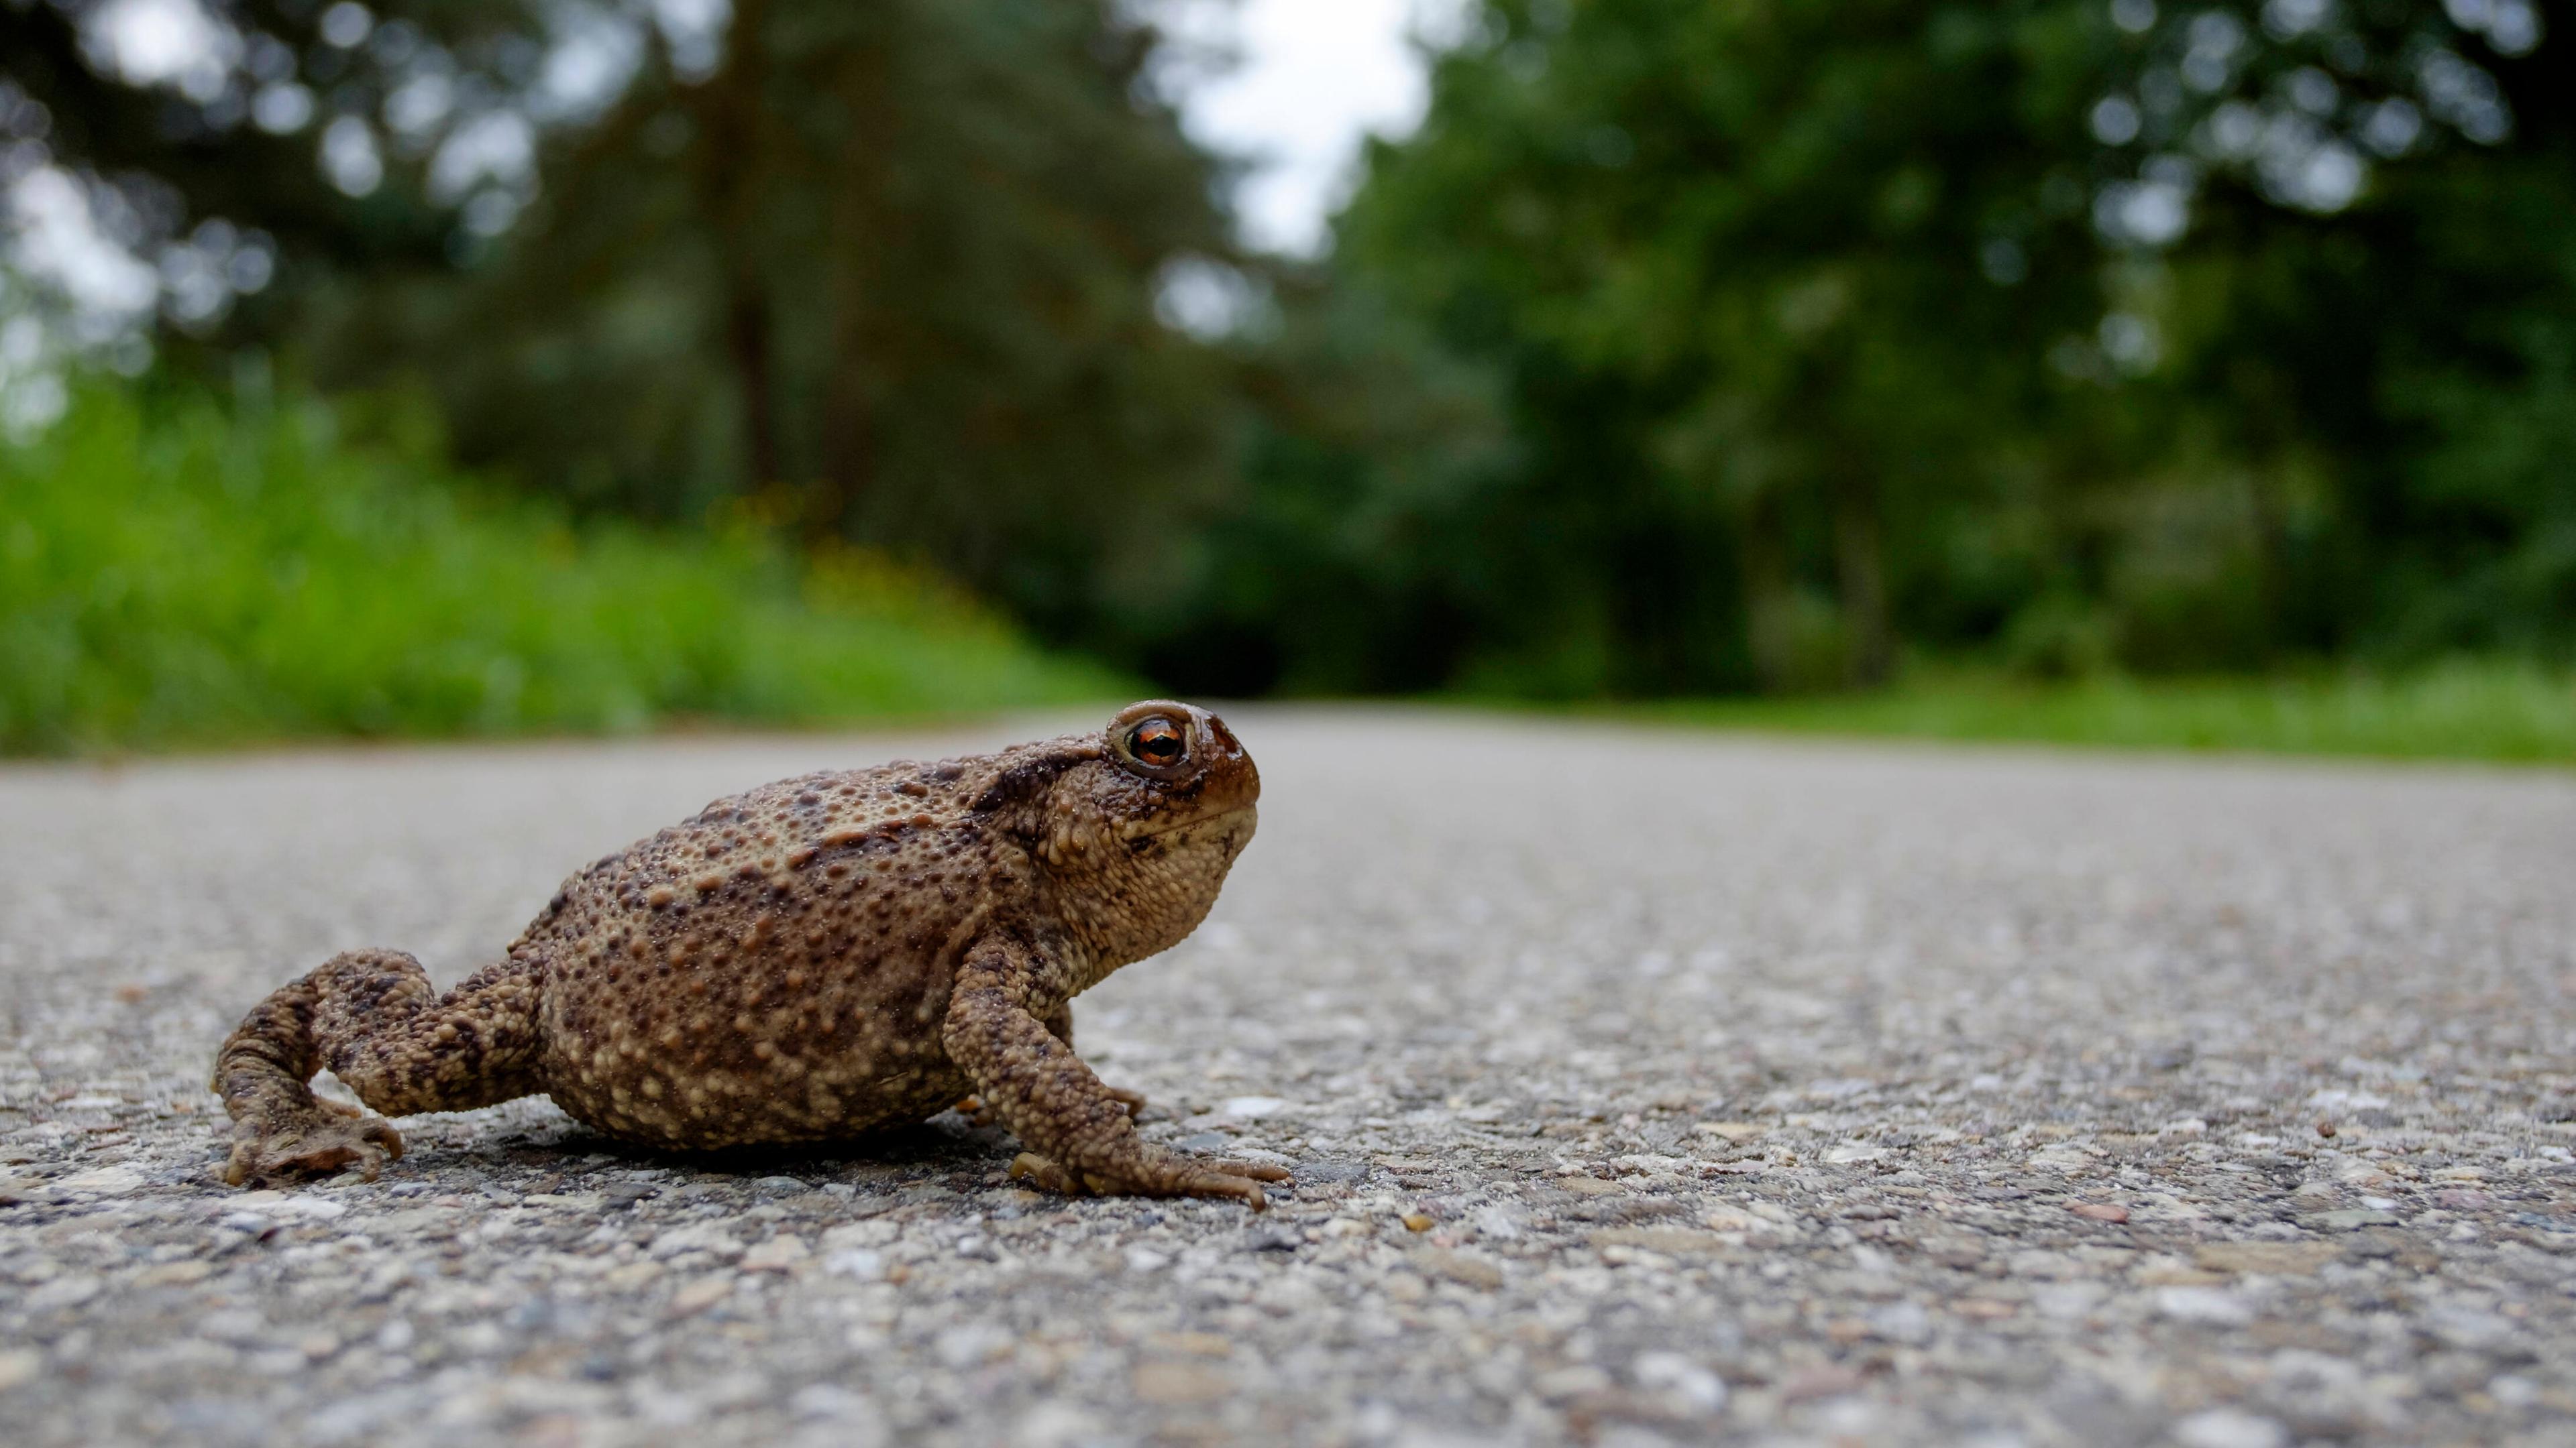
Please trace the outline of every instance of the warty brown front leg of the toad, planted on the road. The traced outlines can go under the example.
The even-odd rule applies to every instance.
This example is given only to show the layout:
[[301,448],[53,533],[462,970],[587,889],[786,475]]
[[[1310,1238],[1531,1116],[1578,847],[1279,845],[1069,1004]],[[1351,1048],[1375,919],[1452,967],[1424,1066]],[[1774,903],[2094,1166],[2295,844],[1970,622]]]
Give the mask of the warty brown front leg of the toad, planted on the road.
[[1231,1196],[1255,1211],[1270,1206],[1262,1183],[1288,1180],[1280,1167],[1182,1157],[1136,1136],[1118,1092],[1030,1013],[1043,966],[1025,940],[999,933],[976,940],[958,964],[943,1031],[948,1059],[1036,1157],[1023,1157],[1018,1170],[1056,1190]]

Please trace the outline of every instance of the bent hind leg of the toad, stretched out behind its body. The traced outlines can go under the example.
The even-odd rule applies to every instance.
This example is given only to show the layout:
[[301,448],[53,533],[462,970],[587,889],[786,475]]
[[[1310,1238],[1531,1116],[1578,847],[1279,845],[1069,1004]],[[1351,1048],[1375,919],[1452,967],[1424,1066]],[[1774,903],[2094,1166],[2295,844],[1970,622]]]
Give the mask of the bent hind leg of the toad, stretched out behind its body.
[[232,1113],[224,1180],[350,1162],[374,1180],[402,1157],[392,1126],[312,1092],[325,1067],[386,1116],[471,1110],[544,1090],[536,1002],[526,961],[477,971],[440,997],[402,951],[332,956],[252,1007],[214,1059],[214,1090]]

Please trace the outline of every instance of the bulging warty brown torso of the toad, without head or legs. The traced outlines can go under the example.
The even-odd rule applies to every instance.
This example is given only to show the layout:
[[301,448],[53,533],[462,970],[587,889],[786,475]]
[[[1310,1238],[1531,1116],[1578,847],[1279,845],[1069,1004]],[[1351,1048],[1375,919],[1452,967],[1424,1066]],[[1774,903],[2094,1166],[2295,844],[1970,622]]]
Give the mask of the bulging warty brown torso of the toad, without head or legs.
[[958,951],[1023,915],[997,760],[814,773],[708,804],[556,894],[513,956],[544,987],[544,1077],[574,1118],[729,1147],[920,1121]]

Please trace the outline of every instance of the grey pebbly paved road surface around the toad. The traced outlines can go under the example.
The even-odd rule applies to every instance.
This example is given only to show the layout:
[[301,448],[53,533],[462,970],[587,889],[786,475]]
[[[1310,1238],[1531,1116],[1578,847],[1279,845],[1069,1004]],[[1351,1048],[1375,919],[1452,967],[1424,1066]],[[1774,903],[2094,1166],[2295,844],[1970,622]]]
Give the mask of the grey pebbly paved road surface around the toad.
[[2576,778],[1234,721],[1260,837],[1077,1015],[1267,1216],[538,1100],[214,1180],[332,951],[448,984],[711,796],[1061,719],[0,770],[10,1443],[2576,1438]]

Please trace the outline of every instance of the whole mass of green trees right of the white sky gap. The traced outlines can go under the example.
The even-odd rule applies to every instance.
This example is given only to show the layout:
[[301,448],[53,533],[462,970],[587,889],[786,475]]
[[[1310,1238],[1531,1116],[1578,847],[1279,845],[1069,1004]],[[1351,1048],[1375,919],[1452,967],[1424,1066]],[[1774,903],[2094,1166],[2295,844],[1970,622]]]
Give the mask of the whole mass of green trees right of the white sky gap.
[[[1368,348],[1301,312],[1360,307],[1427,338],[1376,376],[1430,356],[1484,410],[1440,448],[1422,389],[1267,407],[1239,520],[1329,497],[1419,544],[1350,587],[1370,636],[1239,616],[1234,657],[1582,698],[1865,685],[1909,654],[2576,654],[2576,46],[2481,52],[2509,137],[2427,121],[2357,204],[2300,211],[2195,160],[2213,100],[2172,67],[2218,10],[2128,36],[2099,0],[1479,5],[1278,356],[1334,397]],[[2339,67],[2360,124],[2458,39],[2439,5],[2360,36],[2334,13],[2293,44],[2246,8],[2228,85],[2324,137],[2293,80]],[[2133,144],[2094,137],[2105,95],[2146,108]],[[2141,175],[2197,178],[2164,250],[2102,229]],[[1218,531],[1218,572],[1309,567],[1316,536]]]

